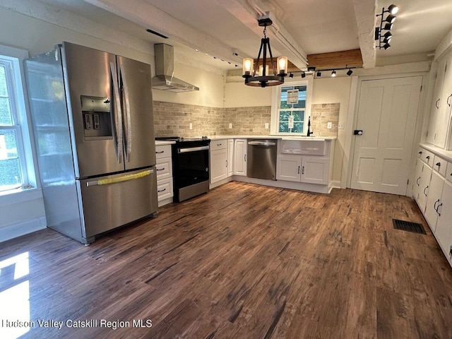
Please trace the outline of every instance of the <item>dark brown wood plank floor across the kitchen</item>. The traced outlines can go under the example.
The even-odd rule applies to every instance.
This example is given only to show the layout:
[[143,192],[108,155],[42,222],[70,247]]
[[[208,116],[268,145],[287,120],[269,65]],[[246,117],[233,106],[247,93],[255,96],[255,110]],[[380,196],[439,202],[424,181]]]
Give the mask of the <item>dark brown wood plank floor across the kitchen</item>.
[[[28,282],[20,338],[452,338],[452,268],[410,198],[232,182],[159,212],[90,246],[52,230],[0,243],[0,295]],[[20,254],[14,278],[1,263]]]

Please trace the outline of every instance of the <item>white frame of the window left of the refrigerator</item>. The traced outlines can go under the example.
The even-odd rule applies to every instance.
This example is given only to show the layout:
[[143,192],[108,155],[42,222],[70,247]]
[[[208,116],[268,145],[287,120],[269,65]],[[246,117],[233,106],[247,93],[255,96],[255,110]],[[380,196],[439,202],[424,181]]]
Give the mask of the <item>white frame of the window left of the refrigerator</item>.
[[30,129],[30,110],[25,90],[23,60],[28,52],[0,45],[0,63],[5,66],[6,86],[13,124],[0,125],[0,129],[13,130],[16,133],[16,145],[20,164],[21,184],[16,189],[0,190],[0,196],[21,192],[37,187],[37,167],[35,166],[34,144]]

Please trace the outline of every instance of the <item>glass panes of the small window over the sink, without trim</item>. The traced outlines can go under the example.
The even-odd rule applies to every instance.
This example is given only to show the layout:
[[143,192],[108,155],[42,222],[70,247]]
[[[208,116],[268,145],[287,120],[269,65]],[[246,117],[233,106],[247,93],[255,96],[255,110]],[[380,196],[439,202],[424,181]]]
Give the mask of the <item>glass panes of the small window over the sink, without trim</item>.
[[280,87],[277,119],[278,133],[302,134],[306,129],[307,85]]

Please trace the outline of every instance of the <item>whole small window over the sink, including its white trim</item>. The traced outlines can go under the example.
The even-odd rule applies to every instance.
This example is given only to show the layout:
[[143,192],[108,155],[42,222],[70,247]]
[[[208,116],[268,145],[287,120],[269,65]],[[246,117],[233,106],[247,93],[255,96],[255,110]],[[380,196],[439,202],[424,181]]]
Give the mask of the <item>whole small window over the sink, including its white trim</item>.
[[307,135],[312,82],[312,79],[286,82],[273,88],[271,134]]

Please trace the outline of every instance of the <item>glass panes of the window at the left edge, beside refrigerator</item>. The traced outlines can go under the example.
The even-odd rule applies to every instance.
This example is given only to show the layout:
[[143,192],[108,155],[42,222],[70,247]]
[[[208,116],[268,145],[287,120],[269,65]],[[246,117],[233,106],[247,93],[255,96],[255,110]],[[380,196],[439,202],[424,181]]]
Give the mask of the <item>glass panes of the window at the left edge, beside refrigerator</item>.
[[0,55],[0,192],[28,186],[16,96],[18,65],[18,59]]

